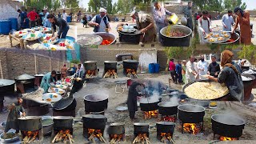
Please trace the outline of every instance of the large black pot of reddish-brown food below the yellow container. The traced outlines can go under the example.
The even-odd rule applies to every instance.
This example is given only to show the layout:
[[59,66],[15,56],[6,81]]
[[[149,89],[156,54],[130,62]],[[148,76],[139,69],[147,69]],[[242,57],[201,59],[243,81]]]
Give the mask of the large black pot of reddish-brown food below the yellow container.
[[190,38],[192,30],[187,26],[174,25],[170,27],[170,30],[179,30],[186,34],[183,37],[169,37],[166,36],[166,30],[168,26],[163,27],[160,30],[162,46],[190,46]]

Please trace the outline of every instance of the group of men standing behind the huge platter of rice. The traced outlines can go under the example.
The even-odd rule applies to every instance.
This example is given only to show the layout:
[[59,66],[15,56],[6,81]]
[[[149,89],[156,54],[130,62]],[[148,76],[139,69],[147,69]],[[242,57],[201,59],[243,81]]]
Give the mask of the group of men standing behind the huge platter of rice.
[[220,66],[216,62],[215,55],[211,56],[210,64],[205,61],[202,55],[199,61],[194,56],[190,56],[188,62],[178,60],[177,64],[174,63],[174,59],[170,59],[169,70],[175,84],[178,84],[178,82],[179,84],[186,84],[197,79],[204,79],[207,74],[217,78],[220,73]]

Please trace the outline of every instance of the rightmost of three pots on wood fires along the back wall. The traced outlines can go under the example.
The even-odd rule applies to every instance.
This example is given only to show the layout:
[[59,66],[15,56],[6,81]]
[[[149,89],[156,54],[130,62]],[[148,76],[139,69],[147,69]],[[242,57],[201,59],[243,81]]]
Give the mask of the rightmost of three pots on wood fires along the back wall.
[[137,75],[138,61],[123,60],[123,74],[129,78],[138,78]]

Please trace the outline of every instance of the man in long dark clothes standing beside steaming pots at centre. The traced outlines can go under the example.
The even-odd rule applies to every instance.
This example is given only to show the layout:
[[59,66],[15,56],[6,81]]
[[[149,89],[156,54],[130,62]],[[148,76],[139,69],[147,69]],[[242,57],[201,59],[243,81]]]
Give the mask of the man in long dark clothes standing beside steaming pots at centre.
[[137,106],[137,97],[140,96],[138,94],[138,91],[136,89],[137,86],[143,86],[139,82],[133,82],[132,85],[130,85],[129,91],[128,91],[128,100],[127,100],[127,106],[130,113],[130,119],[134,119],[135,111],[138,110]]

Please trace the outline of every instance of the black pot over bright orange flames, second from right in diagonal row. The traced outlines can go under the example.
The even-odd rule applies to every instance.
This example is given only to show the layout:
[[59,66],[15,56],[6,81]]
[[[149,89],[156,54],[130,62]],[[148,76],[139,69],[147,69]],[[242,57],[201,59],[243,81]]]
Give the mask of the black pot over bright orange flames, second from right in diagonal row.
[[178,119],[182,122],[182,134],[184,130],[191,134],[198,134],[203,130],[205,110],[202,106],[191,104],[178,106]]

